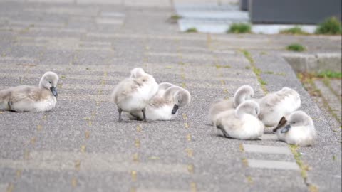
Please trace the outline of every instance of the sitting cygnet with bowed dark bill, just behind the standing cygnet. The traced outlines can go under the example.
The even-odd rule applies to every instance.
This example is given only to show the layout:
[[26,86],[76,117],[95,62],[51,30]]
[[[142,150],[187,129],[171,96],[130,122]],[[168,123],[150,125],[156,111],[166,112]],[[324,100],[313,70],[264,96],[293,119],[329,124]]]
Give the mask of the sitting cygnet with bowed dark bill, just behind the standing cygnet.
[[[162,97],[156,95],[146,107],[146,117],[150,120],[170,120],[177,116],[178,109],[188,105],[191,100],[190,92],[182,87],[167,88]],[[141,112],[131,112],[133,117],[142,119]]]

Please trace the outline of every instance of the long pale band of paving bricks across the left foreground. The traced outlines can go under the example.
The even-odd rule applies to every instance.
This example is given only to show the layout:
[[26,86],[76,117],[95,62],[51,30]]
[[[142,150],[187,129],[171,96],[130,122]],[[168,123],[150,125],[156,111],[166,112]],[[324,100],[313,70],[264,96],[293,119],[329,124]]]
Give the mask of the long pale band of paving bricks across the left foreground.
[[185,164],[157,164],[130,162],[128,155],[83,154],[72,152],[32,151],[29,160],[0,159],[0,168],[40,169],[51,171],[75,170],[75,161],[81,160],[80,171],[129,172],[132,170],[157,174],[189,174]]

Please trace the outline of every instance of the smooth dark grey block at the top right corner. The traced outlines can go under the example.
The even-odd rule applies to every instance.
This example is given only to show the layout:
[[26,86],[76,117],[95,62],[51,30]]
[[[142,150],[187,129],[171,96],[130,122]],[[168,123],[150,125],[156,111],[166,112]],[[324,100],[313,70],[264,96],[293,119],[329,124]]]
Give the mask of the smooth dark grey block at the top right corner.
[[249,15],[252,23],[317,24],[341,20],[341,0],[249,0]]

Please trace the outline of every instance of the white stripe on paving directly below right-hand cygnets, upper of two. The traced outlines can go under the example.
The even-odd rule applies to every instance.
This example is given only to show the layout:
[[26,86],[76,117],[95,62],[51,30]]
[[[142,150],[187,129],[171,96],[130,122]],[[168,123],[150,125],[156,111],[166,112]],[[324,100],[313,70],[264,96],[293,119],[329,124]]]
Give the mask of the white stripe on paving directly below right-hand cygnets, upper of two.
[[261,154],[292,154],[287,146],[266,146],[256,144],[243,144],[244,151]]

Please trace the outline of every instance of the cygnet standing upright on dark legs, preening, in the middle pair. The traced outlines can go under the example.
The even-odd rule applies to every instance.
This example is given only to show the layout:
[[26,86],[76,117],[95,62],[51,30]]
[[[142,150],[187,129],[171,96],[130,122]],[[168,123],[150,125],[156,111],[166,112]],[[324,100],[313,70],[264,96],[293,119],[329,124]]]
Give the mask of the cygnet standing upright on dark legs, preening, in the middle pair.
[[125,78],[116,85],[112,93],[112,99],[118,106],[119,121],[122,120],[123,111],[141,111],[142,120],[146,120],[145,107],[157,90],[158,84],[152,75],[145,73],[142,68],[133,69],[130,78]]

